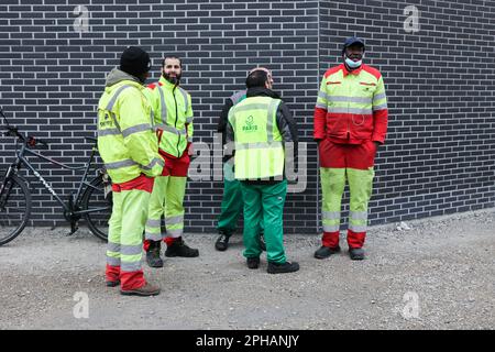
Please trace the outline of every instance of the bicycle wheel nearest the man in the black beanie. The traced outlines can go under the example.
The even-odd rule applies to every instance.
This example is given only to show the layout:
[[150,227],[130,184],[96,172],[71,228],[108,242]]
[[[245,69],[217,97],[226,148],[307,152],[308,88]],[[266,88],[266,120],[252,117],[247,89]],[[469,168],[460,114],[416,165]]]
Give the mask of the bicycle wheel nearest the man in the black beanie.
[[84,215],[89,230],[97,238],[108,240],[108,220],[112,213],[111,183],[107,175],[94,178],[86,187],[81,198],[81,209],[90,210]]

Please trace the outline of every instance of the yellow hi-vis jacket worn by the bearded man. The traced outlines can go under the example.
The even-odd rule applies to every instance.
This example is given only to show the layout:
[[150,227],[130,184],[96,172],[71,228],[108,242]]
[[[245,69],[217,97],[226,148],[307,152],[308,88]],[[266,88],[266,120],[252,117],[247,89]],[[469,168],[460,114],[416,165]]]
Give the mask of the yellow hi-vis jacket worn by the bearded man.
[[146,89],[154,112],[154,130],[160,138],[160,148],[180,157],[193,142],[193,108],[190,95],[175,87],[164,77]]

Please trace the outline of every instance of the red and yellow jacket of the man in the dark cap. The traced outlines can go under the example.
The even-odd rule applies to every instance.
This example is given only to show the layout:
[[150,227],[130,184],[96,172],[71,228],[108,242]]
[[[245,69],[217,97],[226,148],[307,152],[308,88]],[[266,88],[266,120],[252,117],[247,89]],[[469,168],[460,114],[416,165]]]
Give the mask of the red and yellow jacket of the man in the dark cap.
[[377,69],[362,65],[348,72],[341,64],[324,74],[315,108],[316,140],[383,143],[387,119],[387,97]]

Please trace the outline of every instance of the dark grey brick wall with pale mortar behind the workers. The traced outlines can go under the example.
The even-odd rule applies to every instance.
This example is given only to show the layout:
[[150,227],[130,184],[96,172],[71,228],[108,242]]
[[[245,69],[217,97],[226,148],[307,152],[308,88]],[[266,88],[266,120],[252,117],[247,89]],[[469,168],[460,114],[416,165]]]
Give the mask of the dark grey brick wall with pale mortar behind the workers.
[[[406,33],[404,8],[420,11]],[[89,31],[76,32],[77,6]],[[312,110],[318,82],[338,63],[345,36],[369,44],[366,61],[384,75],[389,134],[381,148],[371,204],[373,223],[495,206],[495,72],[493,1],[73,1],[4,0],[0,4],[0,105],[12,121],[53,144],[45,155],[85,160],[106,74],[127,45],[153,58],[184,58],[197,142],[211,144],[221,106],[243,88],[246,72],[271,67],[276,89],[308,142],[308,187],[289,194],[287,232],[315,233],[319,222]],[[482,50],[476,48],[482,46]],[[0,166],[12,157],[0,138]],[[73,173],[41,165],[64,195]],[[35,182],[32,176],[29,179]],[[33,183],[33,186],[35,183]],[[62,224],[59,207],[32,187],[33,221]],[[212,231],[222,184],[189,182],[187,230]]]

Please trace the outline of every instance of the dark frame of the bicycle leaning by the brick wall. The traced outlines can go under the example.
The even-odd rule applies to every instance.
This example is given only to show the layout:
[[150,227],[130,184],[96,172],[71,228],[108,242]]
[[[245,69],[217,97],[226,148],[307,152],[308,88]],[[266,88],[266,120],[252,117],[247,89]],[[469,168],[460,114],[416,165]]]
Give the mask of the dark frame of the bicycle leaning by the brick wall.
[[[81,196],[82,187],[84,186],[92,187],[86,180],[86,178],[87,178],[87,176],[89,174],[89,169],[91,168],[92,160],[95,158],[95,153],[96,153],[96,148],[94,147],[92,151],[91,151],[91,155],[89,156],[88,162],[86,164],[84,164],[82,166],[69,166],[69,165],[59,163],[59,162],[57,162],[57,161],[55,161],[53,158],[46,157],[46,156],[44,156],[44,155],[42,155],[40,153],[36,153],[36,152],[32,151],[31,148],[28,147],[26,142],[23,142],[21,150],[15,152],[16,160],[9,167],[9,169],[7,172],[7,175],[6,175],[6,179],[11,175],[11,173],[16,173],[16,170],[19,170],[21,168],[21,165],[24,165],[34,174],[34,176],[36,176],[38,178],[38,180],[42,183],[42,185],[55,197],[55,199],[64,208],[65,211],[72,212],[73,215],[85,215],[85,213],[89,213],[89,212],[99,211],[101,209],[78,210],[78,211],[74,211],[74,209],[70,209],[69,204],[66,204],[66,202],[64,202],[62,200],[62,198],[53,189],[51,184],[43,178],[43,176],[34,168],[34,166],[31,164],[31,162],[25,157],[25,154],[31,154],[31,155],[36,156],[37,158],[47,161],[51,164],[61,166],[61,167],[66,168],[66,169],[72,169],[72,170],[84,169],[85,173],[84,173],[82,177],[80,178],[79,187],[77,189],[76,197],[74,198],[74,202],[78,204],[79,197]],[[2,187],[3,187],[3,185],[2,185]],[[3,189],[0,190],[0,194],[1,194],[2,190]]]

